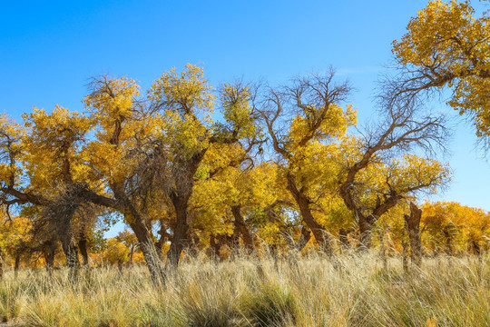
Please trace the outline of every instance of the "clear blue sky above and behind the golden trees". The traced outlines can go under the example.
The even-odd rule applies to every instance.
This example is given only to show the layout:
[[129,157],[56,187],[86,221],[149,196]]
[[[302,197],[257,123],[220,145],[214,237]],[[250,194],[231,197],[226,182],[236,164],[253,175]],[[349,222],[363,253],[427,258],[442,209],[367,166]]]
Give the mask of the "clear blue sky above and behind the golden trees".
[[[201,64],[213,84],[272,83],[337,68],[357,92],[360,121],[393,39],[426,1],[9,1],[0,13],[0,112],[81,110],[96,74],[128,75],[143,89],[171,66]],[[474,5],[480,5],[474,2]],[[444,105],[435,105],[443,108]],[[447,109],[448,114],[454,114]],[[490,210],[490,166],[459,121],[451,187],[442,198]],[[439,199],[441,196],[436,197]]]

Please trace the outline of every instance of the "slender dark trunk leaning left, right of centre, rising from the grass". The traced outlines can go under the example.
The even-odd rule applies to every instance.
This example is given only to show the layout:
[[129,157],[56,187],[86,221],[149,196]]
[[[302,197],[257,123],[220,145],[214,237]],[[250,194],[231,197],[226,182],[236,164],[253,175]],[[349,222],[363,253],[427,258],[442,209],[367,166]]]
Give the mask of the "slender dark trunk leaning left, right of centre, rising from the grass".
[[304,193],[299,191],[292,175],[288,175],[288,190],[299,206],[299,212],[301,213],[303,221],[308,225],[311,233],[313,233],[315,239],[319,243],[320,250],[328,255],[333,254],[333,249],[330,245],[325,229],[315,221],[315,218],[313,217],[313,214],[309,208],[309,200]]

